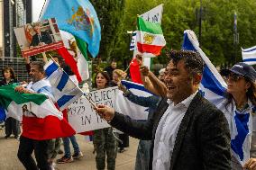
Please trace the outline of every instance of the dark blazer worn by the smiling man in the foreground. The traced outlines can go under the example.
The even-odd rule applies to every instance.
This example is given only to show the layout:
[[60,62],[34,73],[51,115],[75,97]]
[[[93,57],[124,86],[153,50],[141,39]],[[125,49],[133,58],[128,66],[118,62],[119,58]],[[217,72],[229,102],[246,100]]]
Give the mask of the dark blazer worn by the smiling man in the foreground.
[[[134,138],[151,139],[152,163],[153,140],[160,118],[168,106],[167,99],[163,99],[157,112],[154,112],[147,122],[133,121],[115,112],[111,125]],[[231,169],[230,140],[228,122],[224,113],[197,93],[179,125],[169,169]]]

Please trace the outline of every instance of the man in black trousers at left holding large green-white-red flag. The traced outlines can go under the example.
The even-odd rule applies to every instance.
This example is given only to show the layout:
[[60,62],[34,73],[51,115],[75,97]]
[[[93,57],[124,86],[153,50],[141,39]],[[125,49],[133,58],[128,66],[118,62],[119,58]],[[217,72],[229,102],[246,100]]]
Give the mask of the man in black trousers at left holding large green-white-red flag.
[[[52,101],[54,97],[51,92],[50,82],[44,79],[44,63],[40,61],[34,61],[31,63],[30,76],[32,76],[32,82],[23,87],[19,85],[15,88],[15,91],[22,94],[44,94]],[[26,108],[23,106],[23,110]],[[26,111],[24,111],[26,112]],[[20,146],[18,150],[18,158],[23,163],[23,166],[27,170],[38,169],[50,170],[50,164],[48,162],[48,146],[49,139],[34,139],[35,133],[34,127],[38,126],[38,121],[30,121],[35,116],[34,113],[27,112],[23,115],[23,133],[20,138]],[[37,165],[32,158],[32,151],[34,150]]]

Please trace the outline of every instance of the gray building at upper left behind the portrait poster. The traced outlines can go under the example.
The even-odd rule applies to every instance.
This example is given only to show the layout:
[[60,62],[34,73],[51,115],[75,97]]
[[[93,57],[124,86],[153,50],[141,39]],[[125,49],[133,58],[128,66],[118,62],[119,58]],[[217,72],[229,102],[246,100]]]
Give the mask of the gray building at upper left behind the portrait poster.
[[29,77],[24,59],[17,58],[14,27],[27,22],[32,22],[32,0],[0,0],[0,68],[13,67],[20,81],[28,81]]

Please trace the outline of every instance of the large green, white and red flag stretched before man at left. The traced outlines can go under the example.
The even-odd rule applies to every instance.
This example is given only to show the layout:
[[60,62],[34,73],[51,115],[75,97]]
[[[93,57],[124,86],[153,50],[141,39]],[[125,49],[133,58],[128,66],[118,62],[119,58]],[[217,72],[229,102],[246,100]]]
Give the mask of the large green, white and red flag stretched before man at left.
[[56,139],[76,132],[63,119],[62,113],[44,94],[20,94],[15,86],[0,86],[0,105],[6,117],[23,118],[23,136],[29,139]]

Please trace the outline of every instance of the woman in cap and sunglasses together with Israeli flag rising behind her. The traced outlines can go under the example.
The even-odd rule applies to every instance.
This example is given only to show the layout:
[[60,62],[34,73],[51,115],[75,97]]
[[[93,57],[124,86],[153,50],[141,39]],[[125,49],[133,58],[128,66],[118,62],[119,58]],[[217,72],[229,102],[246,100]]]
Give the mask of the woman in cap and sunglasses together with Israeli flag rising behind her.
[[237,170],[242,169],[242,166],[251,166],[251,134],[255,130],[254,125],[252,127],[252,121],[255,122],[252,112],[256,99],[254,68],[242,62],[236,63],[230,70],[223,71],[227,77],[226,85],[215,66],[200,49],[194,31],[184,31],[182,49],[199,52],[206,63],[200,91],[224,112],[229,122],[232,168]]

